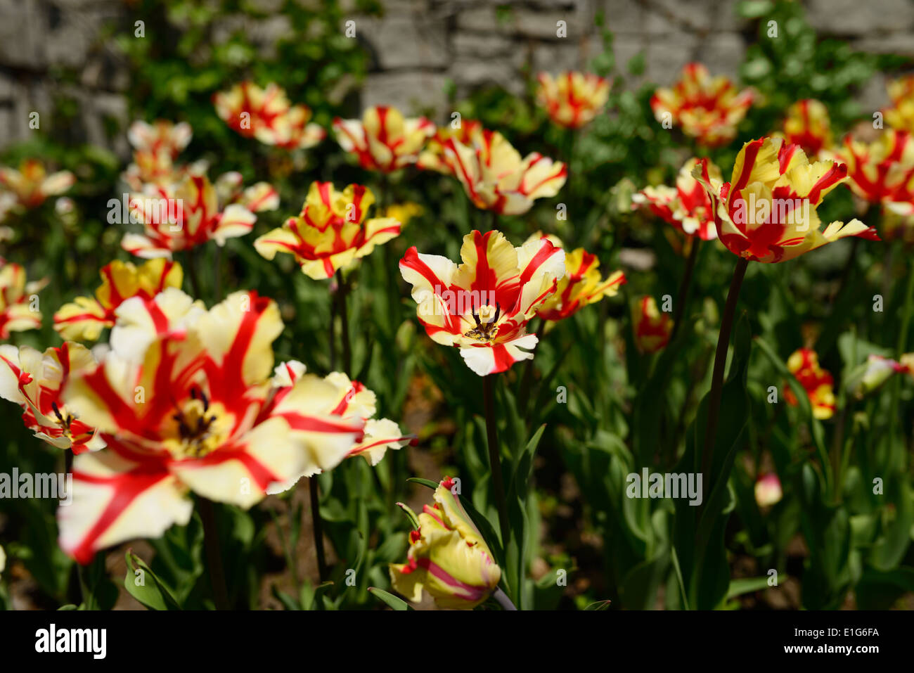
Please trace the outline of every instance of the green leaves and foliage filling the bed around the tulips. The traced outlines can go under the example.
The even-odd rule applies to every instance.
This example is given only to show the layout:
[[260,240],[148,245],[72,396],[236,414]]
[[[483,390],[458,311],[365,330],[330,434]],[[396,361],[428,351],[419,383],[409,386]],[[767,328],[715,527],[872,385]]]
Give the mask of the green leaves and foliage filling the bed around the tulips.
[[[632,302],[642,294],[676,296],[685,259],[665,225],[632,211],[631,195],[647,185],[671,184],[697,148],[654,120],[649,101],[658,83],[635,87],[643,55],[617,62],[601,17],[603,48],[590,69],[611,76],[613,85],[607,112],[579,134],[548,121],[535,102],[532,77],[519,97],[488,88],[454,101],[463,119],[501,131],[522,155],[537,151],[569,162],[569,182],[557,198],[537,201],[524,217],[498,219],[510,240],[520,244],[536,230],[558,234],[569,249],[584,246],[596,254],[604,275],[620,267],[623,248],[649,257],[643,269],[626,269],[628,283],[618,297],[540,330],[536,360],[498,378],[497,450],[511,524],[499,539],[482,383],[456,349],[426,337],[396,266],[411,245],[456,260],[462,235],[487,228],[489,214],[473,208],[452,178],[408,170],[382,180],[357,168],[332,139],[290,154],[241,138],[213,110],[215,92],[250,79],[279,83],[325,128],[336,115],[360,114],[358,88],[372,64],[358,41],[342,36],[344,4],[304,5],[282,2],[289,31],[269,45],[255,43],[240,22],[228,20],[260,16],[254,4],[238,0],[142,0],[131,19],[144,22],[144,39],[133,38],[133,25],[112,26],[105,34],[129,65],[132,118],[186,121],[194,138],[182,160],[204,158],[211,176],[238,170],[248,183],[262,179],[278,188],[278,212],[261,214],[256,230],[229,240],[221,258],[209,245],[197,260],[204,269],[224,265],[223,287],[256,288],[277,300],[286,325],[274,344],[277,361],[296,358],[309,371],[326,373],[339,326],[331,322],[330,283],[304,277],[287,256],[267,262],[253,250],[253,237],[297,213],[314,179],[332,178],[337,187],[367,184],[385,203],[412,200],[425,209],[399,238],[345,273],[355,378],[377,393],[377,417],[409,425],[418,447],[388,452],[374,467],[356,458],[313,477],[331,560],[324,582],[312,567],[312,512],[298,497],[303,488],[249,511],[218,507],[233,607],[410,609],[386,591],[388,564],[402,562],[409,544],[409,519],[397,503],[429,502],[424,487],[434,488],[443,475],[462,478],[462,504],[502,568],[505,593],[520,609],[751,607],[764,593],[779,591],[771,586],[772,570],[780,585],[799,582],[801,604],[792,607],[837,608],[853,597],[857,607],[886,608],[914,592],[914,493],[906,448],[912,386],[897,377],[864,400],[844,390],[867,355],[896,357],[912,349],[910,338],[896,341],[908,334],[910,317],[900,282],[911,273],[910,250],[899,242],[862,241],[849,258],[851,244],[841,241],[785,264],[750,265],[703,503],[626,494],[628,475],[644,468],[701,471],[710,369],[735,258],[715,243],[703,244],[693,300],[677,336],[658,354],[638,352]],[[374,2],[360,1],[356,8],[379,11]],[[780,130],[794,101],[824,101],[836,136],[868,120],[872,111],[860,106],[856,93],[877,71],[902,63],[820,39],[800,3],[752,0],[737,10],[757,35],[739,68],[741,84],[761,98],[738,138],[711,153],[725,178],[739,146]],[[769,37],[770,21],[777,22],[780,37]],[[77,81],[74,73],[60,78]],[[75,206],[70,215],[59,216],[48,201],[5,221],[15,232],[4,244],[5,258],[28,262],[30,278],[52,279],[41,294],[44,327],[11,339],[39,348],[59,343],[50,327],[58,306],[94,291],[103,264],[128,257],[120,249],[122,226],[106,219],[108,200],[123,191],[122,157],[72,142],[64,130],[80,108],[64,92],[56,103],[48,124],[54,131],[0,157],[16,165],[37,156],[78,176],[68,195]],[[112,125],[112,136],[123,131]],[[556,218],[559,203],[568,207],[569,219]],[[826,222],[846,220],[855,215],[854,203],[841,188],[821,212]],[[833,301],[848,259],[846,291]],[[203,274],[201,281],[201,295],[212,304],[216,276]],[[885,294],[881,313],[872,309],[874,294]],[[787,358],[803,345],[813,346],[834,374],[839,409],[832,419],[815,418],[787,368]],[[768,399],[772,386],[774,403]],[[786,401],[788,390],[795,404]],[[0,407],[8,429],[0,473],[13,466],[62,470],[60,452],[32,437],[20,413],[12,404]],[[779,475],[783,486],[772,507],[760,507],[754,494],[765,471]],[[881,480],[879,493],[875,480]],[[117,593],[103,564],[96,561],[80,576],[59,550],[55,508],[41,499],[0,501],[7,569],[21,564],[35,582],[38,607],[111,607]],[[127,593],[155,610],[213,606],[198,515],[149,544],[143,558],[126,550]],[[747,566],[748,576],[736,574]],[[0,582],[3,606],[10,604],[8,576]]]

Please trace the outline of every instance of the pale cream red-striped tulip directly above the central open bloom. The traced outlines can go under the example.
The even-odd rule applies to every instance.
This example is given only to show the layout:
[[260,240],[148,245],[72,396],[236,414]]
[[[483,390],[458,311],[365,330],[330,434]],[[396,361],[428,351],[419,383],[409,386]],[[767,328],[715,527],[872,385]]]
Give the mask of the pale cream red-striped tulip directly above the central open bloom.
[[523,215],[537,198],[558,194],[568,168],[533,152],[521,158],[498,132],[484,130],[478,144],[456,138],[444,142],[446,163],[476,208],[504,215]]

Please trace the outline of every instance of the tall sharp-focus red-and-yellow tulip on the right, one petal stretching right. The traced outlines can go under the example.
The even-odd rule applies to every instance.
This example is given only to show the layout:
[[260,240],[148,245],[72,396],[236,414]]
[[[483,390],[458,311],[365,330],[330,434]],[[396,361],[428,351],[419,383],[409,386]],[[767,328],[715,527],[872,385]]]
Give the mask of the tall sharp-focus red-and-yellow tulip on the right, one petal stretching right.
[[834,221],[819,230],[816,208],[847,179],[847,166],[810,163],[799,145],[780,138],[744,144],[728,183],[710,176],[704,159],[694,175],[717,204],[718,238],[744,259],[786,262],[846,236],[878,240],[876,230],[858,219]]

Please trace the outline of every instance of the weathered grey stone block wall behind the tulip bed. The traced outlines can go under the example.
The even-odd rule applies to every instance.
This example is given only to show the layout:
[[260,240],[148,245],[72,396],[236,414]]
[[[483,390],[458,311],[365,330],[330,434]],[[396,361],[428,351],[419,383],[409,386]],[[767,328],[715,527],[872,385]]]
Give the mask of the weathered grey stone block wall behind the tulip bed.
[[[914,0],[804,4],[822,35],[914,57]],[[632,84],[668,83],[693,59],[732,75],[754,38],[734,6],[731,0],[386,0],[383,17],[354,16],[372,55],[362,100],[444,113],[451,83],[458,99],[488,84],[522,91],[525,73],[579,69],[599,53],[598,12],[615,33],[622,67],[643,53],[643,76]],[[61,66],[79,73],[69,89],[80,101],[80,128],[73,135],[108,143],[102,120],[126,121],[128,81],[100,30],[128,12],[119,0],[0,0],[0,146],[28,137],[28,114],[48,110]],[[557,36],[558,21],[566,22],[567,37]],[[249,34],[269,50],[287,29],[283,17],[274,16],[252,25]],[[866,96],[874,106],[882,104],[883,82],[873,82]],[[114,149],[122,151],[119,145],[122,140]]]

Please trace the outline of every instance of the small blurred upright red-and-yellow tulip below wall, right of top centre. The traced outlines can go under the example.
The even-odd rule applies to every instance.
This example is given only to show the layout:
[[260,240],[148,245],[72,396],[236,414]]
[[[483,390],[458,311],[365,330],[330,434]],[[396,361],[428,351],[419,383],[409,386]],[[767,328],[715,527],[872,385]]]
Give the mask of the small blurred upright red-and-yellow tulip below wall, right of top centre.
[[563,72],[552,77],[541,72],[537,79],[537,102],[553,123],[568,129],[592,122],[610,97],[611,80],[591,73]]

